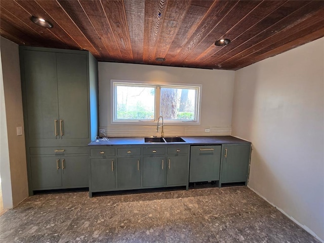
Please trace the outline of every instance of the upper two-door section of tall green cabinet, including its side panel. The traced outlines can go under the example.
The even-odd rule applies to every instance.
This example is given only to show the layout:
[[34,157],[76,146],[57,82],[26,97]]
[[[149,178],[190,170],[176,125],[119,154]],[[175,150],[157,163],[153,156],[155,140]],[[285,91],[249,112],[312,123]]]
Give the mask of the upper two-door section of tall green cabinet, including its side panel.
[[95,139],[98,71],[89,52],[20,47],[20,66],[27,146],[86,146]]

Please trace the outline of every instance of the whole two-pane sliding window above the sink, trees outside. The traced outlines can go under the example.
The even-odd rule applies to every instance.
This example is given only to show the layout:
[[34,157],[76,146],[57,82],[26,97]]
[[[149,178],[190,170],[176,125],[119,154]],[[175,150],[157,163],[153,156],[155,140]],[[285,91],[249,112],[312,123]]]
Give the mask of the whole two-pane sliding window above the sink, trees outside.
[[112,123],[198,123],[201,86],[111,80]]

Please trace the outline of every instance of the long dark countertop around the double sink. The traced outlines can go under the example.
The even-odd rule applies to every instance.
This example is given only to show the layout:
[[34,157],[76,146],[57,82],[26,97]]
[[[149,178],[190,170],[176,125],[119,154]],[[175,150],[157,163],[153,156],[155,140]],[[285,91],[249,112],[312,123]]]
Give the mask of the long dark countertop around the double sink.
[[186,142],[172,142],[172,143],[145,143],[144,137],[109,137],[109,140],[101,140],[99,142],[91,142],[90,146],[105,146],[105,145],[166,145],[166,144],[190,144],[190,145],[206,145],[206,144],[223,144],[223,143],[246,143],[251,144],[249,141],[245,141],[232,136],[197,136],[187,137],[181,136]]

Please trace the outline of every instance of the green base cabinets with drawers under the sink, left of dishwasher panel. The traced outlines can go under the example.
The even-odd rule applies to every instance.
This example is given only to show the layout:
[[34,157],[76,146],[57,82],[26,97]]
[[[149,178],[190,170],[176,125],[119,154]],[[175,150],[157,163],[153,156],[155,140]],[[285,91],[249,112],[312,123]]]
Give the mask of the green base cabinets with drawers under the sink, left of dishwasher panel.
[[93,192],[186,186],[189,146],[96,146],[90,149]]

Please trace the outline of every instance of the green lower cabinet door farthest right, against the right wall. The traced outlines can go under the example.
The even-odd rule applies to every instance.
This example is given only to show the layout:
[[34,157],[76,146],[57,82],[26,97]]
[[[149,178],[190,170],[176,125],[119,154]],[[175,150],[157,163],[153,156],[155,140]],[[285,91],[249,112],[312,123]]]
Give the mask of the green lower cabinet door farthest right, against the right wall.
[[251,146],[223,146],[222,183],[246,182]]

